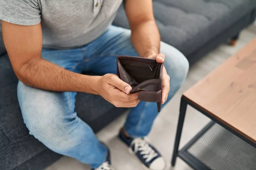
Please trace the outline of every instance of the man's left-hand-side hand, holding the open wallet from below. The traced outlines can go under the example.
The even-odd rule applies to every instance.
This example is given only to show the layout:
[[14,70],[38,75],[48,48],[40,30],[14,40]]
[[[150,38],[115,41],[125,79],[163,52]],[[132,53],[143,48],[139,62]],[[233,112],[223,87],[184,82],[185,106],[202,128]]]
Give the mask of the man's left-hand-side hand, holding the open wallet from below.
[[123,82],[115,74],[99,77],[96,91],[100,96],[120,108],[132,108],[140,102],[138,93],[128,94],[131,86]]

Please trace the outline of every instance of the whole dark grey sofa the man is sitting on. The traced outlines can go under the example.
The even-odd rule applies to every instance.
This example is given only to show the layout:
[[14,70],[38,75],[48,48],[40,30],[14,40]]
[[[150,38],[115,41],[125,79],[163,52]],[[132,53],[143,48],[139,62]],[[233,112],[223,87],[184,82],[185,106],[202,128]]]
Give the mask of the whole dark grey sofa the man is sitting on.
[[[154,0],[153,3],[162,40],[182,51],[190,63],[239,34],[256,16],[256,0]],[[113,24],[128,28],[123,6]],[[16,87],[17,77],[0,37],[0,170],[44,169],[61,155],[29,135]],[[125,110],[91,94],[79,93],[76,100],[76,111],[95,132]]]

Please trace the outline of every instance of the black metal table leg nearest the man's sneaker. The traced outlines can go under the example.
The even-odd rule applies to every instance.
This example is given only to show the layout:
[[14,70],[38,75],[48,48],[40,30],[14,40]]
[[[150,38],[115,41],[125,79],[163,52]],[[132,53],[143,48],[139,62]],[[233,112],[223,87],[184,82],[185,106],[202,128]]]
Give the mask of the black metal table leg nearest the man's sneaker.
[[175,166],[176,159],[177,159],[177,153],[178,153],[179,144],[180,144],[180,136],[181,136],[181,132],[182,132],[182,128],[183,128],[187,105],[188,104],[187,104],[186,100],[183,97],[181,97],[179,122],[178,122],[178,126],[177,126],[175,144],[174,144],[173,155],[172,155],[172,166]]

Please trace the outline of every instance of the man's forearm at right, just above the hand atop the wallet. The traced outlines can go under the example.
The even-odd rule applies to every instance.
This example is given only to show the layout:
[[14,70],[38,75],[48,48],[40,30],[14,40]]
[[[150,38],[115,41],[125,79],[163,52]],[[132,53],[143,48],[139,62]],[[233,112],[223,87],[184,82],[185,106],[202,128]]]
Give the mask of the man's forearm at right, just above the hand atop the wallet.
[[159,53],[160,34],[154,20],[141,22],[131,28],[131,41],[140,57]]

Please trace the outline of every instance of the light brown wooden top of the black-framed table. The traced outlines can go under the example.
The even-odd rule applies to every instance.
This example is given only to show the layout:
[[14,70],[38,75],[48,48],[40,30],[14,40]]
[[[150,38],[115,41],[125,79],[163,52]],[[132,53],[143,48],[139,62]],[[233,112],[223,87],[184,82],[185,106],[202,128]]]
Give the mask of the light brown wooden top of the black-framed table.
[[256,39],[183,97],[256,143]]

